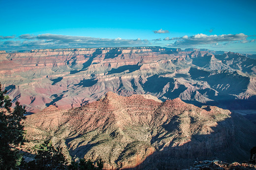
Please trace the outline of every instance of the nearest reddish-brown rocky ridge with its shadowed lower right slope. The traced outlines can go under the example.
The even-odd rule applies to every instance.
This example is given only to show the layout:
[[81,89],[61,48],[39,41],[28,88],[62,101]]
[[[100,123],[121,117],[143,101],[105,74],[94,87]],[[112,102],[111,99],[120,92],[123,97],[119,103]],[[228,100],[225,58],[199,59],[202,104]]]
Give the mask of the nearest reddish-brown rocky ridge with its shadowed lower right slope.
[[179,98],[159,102],[108,92],[81,108],[51,106],[28,115],[25,127],[32,142],[52,139],[74,159],[102,158],[105,169],[188,168],[195,160],[245,160],[256,142],[256,127],[231,115]]

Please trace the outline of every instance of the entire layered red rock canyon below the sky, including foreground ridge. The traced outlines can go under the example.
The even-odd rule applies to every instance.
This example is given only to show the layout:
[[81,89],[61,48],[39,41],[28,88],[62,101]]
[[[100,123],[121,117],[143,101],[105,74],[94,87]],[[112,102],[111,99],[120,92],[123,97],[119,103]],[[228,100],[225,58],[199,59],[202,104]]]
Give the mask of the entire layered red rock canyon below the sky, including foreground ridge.
[[24,149],[51,140],[69,161],[188,169],[194,161],[248,160],[256,143],[256,59],[247,55],[162,47],[0,51],[0,83],[29,113]]

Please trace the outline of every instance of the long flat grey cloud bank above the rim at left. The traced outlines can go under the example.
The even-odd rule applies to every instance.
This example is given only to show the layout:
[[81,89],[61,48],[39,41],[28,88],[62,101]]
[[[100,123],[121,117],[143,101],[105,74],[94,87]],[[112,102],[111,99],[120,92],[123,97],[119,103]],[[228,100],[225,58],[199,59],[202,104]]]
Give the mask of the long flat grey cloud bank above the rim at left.
[[146,46],[148,40],[122,39],[122,38],[94,38],[85,36],[69,36],[58,34],[23,34],[16,41],[0,42],[0,49],[24,50],[24,49],[47,49],[47,48],[79,48],[79,47],[125,47]]

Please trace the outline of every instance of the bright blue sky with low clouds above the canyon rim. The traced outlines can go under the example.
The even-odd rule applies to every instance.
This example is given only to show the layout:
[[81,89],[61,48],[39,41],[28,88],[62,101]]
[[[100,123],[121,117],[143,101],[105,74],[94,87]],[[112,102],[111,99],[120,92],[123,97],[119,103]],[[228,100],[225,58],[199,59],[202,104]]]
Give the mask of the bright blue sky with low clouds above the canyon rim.
[[162,46],[256,52],[256,0],[0,0],[0,6],[0,50]]

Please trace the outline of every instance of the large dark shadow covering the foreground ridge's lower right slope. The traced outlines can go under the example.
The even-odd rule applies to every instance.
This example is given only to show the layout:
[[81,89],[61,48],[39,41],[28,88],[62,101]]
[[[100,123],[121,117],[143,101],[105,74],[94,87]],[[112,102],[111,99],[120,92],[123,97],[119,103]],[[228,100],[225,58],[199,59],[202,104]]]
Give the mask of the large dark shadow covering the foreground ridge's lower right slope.
[[[168,125],[163,128],[168,130]],[[256,125],[232,113],[231,118],[212,129],[214,132],[209,135],[192,135],[191,141],[181,146],[170,147],[174,144],[171,142],[130,170],[180,170],[189,168],[194,161],[217,159],[231,163],[250,159],[250,149],[256,144]]]

